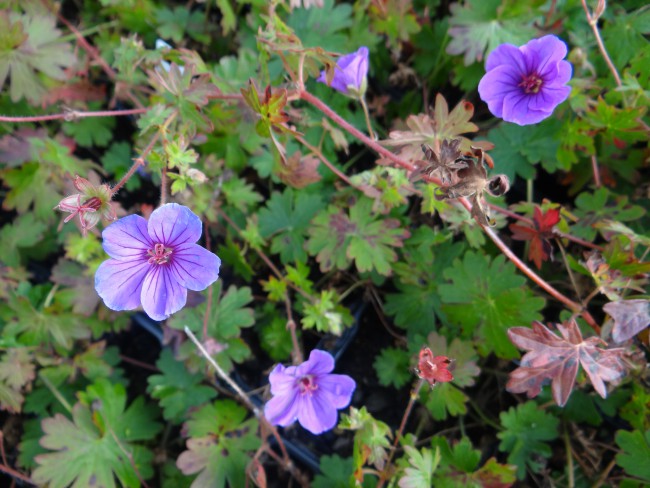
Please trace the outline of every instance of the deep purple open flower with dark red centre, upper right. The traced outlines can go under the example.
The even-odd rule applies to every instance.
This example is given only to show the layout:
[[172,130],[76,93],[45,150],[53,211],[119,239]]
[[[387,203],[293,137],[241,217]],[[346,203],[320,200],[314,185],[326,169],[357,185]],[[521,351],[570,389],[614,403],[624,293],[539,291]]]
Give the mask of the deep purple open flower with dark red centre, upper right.
[[501,44],[485,63],[487,73],[478,85],[490,112],[518,125],[535,124],[566,100],[572,68],[563,61],[566,44],[544,36],[516,47]]

